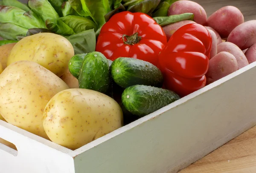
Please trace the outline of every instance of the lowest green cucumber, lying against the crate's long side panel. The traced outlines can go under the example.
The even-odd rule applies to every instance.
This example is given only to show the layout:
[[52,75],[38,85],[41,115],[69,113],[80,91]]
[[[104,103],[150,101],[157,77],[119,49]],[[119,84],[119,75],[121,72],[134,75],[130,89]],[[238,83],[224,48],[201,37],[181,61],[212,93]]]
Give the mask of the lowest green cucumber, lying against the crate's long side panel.
[[134,115],[145,116],[180,99],[173,91],[145,85],[125,88],[122,103]]

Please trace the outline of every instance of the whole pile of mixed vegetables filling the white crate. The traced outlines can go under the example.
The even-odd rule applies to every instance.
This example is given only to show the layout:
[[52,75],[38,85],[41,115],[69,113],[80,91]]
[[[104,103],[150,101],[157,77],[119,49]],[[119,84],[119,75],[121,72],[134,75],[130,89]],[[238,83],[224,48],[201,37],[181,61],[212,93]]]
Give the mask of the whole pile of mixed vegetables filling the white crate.
[[0,119],[75,150],[255,62],[255,33],[189,0],[1,0]]

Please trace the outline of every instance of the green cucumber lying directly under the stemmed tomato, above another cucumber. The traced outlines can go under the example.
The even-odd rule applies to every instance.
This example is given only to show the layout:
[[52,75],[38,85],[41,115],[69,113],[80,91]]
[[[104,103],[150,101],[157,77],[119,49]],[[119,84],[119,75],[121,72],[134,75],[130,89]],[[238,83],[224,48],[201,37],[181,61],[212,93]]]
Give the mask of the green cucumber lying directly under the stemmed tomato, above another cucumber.
[[117,85],[127,88],[132,85],[161,87],[163,74],[150,62],[120,57],[112,62],[111,76]]

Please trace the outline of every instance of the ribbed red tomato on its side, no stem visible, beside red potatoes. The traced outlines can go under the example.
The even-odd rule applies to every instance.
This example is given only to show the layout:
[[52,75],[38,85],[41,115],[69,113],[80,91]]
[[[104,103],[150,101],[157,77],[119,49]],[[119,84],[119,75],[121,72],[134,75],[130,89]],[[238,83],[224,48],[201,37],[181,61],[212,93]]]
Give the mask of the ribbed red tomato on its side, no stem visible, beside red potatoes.
[[212,37],[197,23],[179,28],[159,55],[164,87],[186,96],[206,85]]

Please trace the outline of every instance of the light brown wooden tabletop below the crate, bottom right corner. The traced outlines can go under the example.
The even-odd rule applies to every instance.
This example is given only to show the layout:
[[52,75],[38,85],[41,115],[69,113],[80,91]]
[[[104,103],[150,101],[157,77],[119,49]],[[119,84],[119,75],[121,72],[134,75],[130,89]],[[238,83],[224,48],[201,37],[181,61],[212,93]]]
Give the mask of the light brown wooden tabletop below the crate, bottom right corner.
[[256,126],[179,173],[255,173]]

